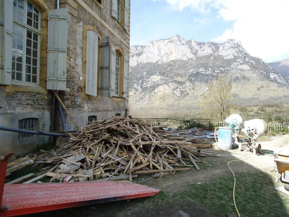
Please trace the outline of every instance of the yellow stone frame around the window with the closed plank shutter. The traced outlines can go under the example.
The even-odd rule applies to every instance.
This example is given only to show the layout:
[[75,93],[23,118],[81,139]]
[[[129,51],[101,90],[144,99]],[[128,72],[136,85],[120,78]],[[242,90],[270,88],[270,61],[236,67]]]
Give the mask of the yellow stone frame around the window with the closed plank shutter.
[[97,96],[91,96],[88,94],[85,94],[85,79],[81,80],[81,86],[82,86],[82,97],[83,98],[100,98],[100,58],[101,58],[101,35],[99,31],[96,29],[95,26],[85,25],[83,27],[83,58],[82,58],[82,77],[85,78],[85,67],[86,67],[86,33],[88,30],[92,30],[97,32],[98,34],[98,62],[97,62]]

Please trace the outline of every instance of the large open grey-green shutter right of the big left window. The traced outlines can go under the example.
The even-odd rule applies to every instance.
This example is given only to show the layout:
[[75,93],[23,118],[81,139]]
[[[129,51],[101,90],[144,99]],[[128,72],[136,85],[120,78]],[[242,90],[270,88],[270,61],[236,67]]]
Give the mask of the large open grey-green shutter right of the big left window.
[[48,12],[47,89],[66,90],[67,8]]

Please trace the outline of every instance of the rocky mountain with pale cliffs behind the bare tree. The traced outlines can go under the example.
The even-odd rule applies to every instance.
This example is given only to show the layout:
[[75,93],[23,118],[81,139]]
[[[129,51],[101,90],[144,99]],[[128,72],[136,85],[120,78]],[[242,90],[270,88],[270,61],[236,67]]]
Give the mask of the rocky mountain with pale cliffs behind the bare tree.
[[219,74],[232,83],[236,105],[288,100],[289,79],[240,41],[186,41],[178,35],[130,48],[130,114],[167,117],[200,113],[197,99]]

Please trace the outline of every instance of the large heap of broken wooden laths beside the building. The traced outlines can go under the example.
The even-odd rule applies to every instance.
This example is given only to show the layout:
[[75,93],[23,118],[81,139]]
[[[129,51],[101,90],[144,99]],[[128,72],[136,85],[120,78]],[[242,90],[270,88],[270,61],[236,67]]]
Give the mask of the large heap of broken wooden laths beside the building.
[[[117,175],[137,174],[161,176],[175,171],[187,171],[189,166],[200,169],[199,157],[216,156],[200,148],[211,144],[201,139],[183,141],[163,126],[140,119],[113,117],[94,121],[70,134],[67,143],[43,153],[36,163],[49,164],[50,181],[86,181],[95,178],[111,179]],[[44,152],[44,151],[43,151]],[[192,162],[193,165],[187,164]]]

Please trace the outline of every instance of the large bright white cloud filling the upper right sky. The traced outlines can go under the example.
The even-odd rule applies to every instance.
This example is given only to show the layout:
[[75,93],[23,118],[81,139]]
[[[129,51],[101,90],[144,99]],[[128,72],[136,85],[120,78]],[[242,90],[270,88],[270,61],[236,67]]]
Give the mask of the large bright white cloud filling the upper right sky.
[[218,10],[224,21],[233,21],[233,27],[212,41],[223,42],[236,39],[252,56],[264,61],[289,57],[288,0],[166,0],[172,7],[182,11],[207,13],[211,8]]

